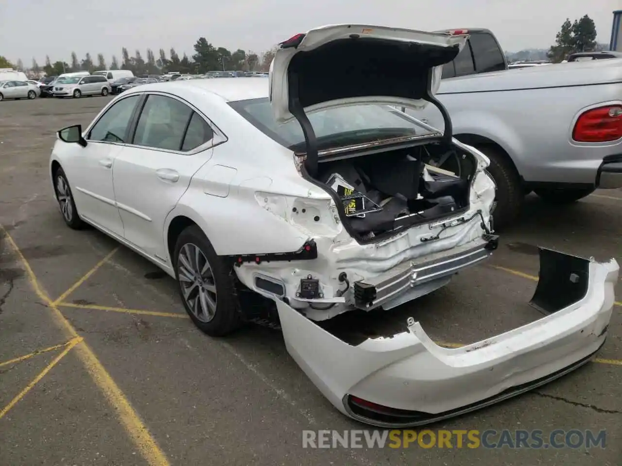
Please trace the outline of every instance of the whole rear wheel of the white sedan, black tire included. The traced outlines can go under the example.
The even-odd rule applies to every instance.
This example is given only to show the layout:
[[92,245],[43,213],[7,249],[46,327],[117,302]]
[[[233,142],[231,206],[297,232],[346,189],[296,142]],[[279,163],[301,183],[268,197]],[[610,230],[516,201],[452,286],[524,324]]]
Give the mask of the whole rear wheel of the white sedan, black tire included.
[[[195,255],[192,248],[197,248],[202,257],[199,257],[200,264],[195,266],[195,260],[192,259]],[[204,273],[200,280],[180,280],[180,272],[183,277],[190,275],[196,276],[194,273],[188,273],[188,255],[192,256],[190,266],[201,270],[205,267],[206,259],[208,267],[210,267],[211,273]],[[173,255],[173,267],[175,268],[175,278],[177,278],[177,286],[179,288],[179,295],[182,298],[183,307],[190,316],[190,319],[194,324],[203,332],[211,337],[221,337],[226,334],[230,334],[234,330],[241,326],[242,319],[238,310],[238,302],[236,300],[236,293],[234,289],[234,283],[231,279],[231,265],[227,265],[226,262],[216,254],[210,240],[207,239],[203,231],[198,226],[189,226],[177,238],[175,242],[175,252]],[[205,288],[204,288],[205,287]],[[207,290],[207,287],[215,289],[215,293]],[[188,293],[190,289],[190,293]],[[206,298],[201,301],[200,293]],[[207,303],[207,296],[211,299],[211,303],[214,304],[213,308]],[[194,311],[193,309],[199,310]],[[210,309],[203,310],[206,306]]]

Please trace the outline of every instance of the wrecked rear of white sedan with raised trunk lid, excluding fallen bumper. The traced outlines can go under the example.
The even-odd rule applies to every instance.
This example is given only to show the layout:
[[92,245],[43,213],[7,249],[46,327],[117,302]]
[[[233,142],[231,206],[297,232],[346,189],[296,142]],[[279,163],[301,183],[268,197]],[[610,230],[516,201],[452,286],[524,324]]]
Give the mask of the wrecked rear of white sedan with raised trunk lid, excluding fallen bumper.
[[394,308],[490,257],[497,238],[488,159],[452,138],[447,112],[442,133],[394,108],[443,109],[433,95],[441,65],[464,42],[337,25],[282,43],[269,103],[230,105],[292,150],[297,184],[313,185],[313,195],[283,190],[256,198],[308,235],[304,248],[317,260],[284,267],[276,257],[239,256],[236,273],[245,285],[321,321]]

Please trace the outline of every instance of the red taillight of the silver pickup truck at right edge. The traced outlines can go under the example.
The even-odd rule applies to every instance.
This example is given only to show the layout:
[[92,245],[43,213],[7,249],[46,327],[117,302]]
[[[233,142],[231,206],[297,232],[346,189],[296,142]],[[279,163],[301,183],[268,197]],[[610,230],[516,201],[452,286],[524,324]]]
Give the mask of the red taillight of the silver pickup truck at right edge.
[[583,112],[572,130],[577,142],[608,142],[622,137],[622,106],[608,105]]

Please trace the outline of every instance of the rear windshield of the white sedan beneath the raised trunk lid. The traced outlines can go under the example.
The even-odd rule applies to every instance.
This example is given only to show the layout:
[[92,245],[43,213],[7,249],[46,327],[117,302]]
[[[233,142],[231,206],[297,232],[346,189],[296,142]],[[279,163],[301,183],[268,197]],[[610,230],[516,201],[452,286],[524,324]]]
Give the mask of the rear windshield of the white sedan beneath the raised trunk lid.
[[[267,98],[231,102],[241,116],[272,139],[288,148],[302,148],[305,137],[297,121],[278,124]],[[376,139],[432,134],[429,130],[389,106],[357,105],[309,114],[318,148],[358,144]]]

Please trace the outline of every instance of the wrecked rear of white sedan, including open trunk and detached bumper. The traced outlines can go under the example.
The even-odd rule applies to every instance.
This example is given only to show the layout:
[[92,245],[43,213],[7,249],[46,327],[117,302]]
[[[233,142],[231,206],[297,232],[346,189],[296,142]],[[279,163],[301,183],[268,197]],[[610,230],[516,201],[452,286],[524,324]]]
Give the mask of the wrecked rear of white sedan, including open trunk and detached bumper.
[[[265,209],[309,234],[307,257],[291,267],[256,257],[245,267],[253,258],[239,256],[236,273],[274,299],[287,350],[323,395],[376,426],[430,423],[561,377],[601,347],[611,318],[615,260],[541,249],[531,304],[544,317],[481,342],[441,347],[411,318],[401,332],[353,343],[317,322],[350,309],[394,308],[496,248],[488,159],[453,139],[450,116],[434,98],[443,63],[464,42],[366,25],[315,29],[282,43],[272,63],[269,99],[280,126],[258,109],[232,104],[291,148],[299,175],[327,193],[258,193]],[[322,126],[330,127],[331,112],[353,106],[363,120],[371,111],[415,122],[389,106],[429,104],[443,114],[443,133],[420,122],[416,130],[357,127],[354,113],[350,126]],[[303,141],[287,140],[292,122]]]

